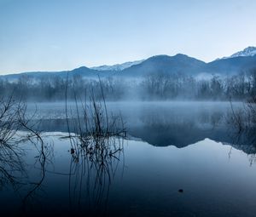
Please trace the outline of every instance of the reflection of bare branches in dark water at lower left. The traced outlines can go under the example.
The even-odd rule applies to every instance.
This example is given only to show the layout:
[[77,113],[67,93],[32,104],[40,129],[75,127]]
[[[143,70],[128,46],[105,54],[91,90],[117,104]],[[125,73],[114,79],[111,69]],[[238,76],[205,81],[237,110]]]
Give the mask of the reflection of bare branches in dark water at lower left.
[[31,213],[41,197],[50,146],[39,134],[20,131],[0,145],[1,212]]

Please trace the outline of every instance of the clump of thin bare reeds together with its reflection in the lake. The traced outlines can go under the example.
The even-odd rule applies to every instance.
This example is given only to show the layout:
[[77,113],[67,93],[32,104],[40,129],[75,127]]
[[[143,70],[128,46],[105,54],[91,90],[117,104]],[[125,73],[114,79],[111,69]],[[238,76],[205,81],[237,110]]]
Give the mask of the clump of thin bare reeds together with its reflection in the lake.
[[[70,111],[71,115],[66,114],[72,155],[70,203],[74,209],[86,205],[90,213],[94,214],[104,212],[102,205],[108,203],[109,186],[119,162],[124,163],[121,157],[124,157],[126,136],[121,115],[113,115],[108,111],[102,87],[101,93],[102,100],[96,100],[93,89],[81,99],[74,91],[75,109]],[[70,126],[74,126],[73,132]]]

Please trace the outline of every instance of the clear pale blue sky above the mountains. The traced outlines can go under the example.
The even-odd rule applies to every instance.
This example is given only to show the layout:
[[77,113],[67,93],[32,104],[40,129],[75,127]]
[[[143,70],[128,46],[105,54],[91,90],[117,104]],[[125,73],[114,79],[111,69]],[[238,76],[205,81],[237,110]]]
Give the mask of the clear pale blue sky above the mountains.
[[0,0],[0,74],[256,46],[255,0]]

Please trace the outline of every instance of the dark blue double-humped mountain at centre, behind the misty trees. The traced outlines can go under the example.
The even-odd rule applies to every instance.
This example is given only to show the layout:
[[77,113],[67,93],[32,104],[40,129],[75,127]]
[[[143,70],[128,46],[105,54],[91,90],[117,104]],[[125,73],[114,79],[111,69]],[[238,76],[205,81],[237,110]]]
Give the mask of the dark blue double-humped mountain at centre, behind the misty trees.
[[201,60],[189,57],[185,54],[175,56],[156,55],[144,60],[142,63],[126,68],[122,71],[122,76],[140,77],[152,73],[184,73],[195,74],[201,71],[206,63]]

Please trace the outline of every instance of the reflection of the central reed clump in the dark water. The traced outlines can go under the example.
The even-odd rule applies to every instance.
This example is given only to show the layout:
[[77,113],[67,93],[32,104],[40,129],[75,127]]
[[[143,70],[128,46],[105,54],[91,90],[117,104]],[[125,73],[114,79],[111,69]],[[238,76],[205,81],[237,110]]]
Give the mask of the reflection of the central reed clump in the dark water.
[[102,216],[119,163],[124,163],[124,140],[120,137],[90,140],[88,146],[77,138],[71,141],[75,148],[70,150],[70,208],[73,214],[86,210],[87,214]]

